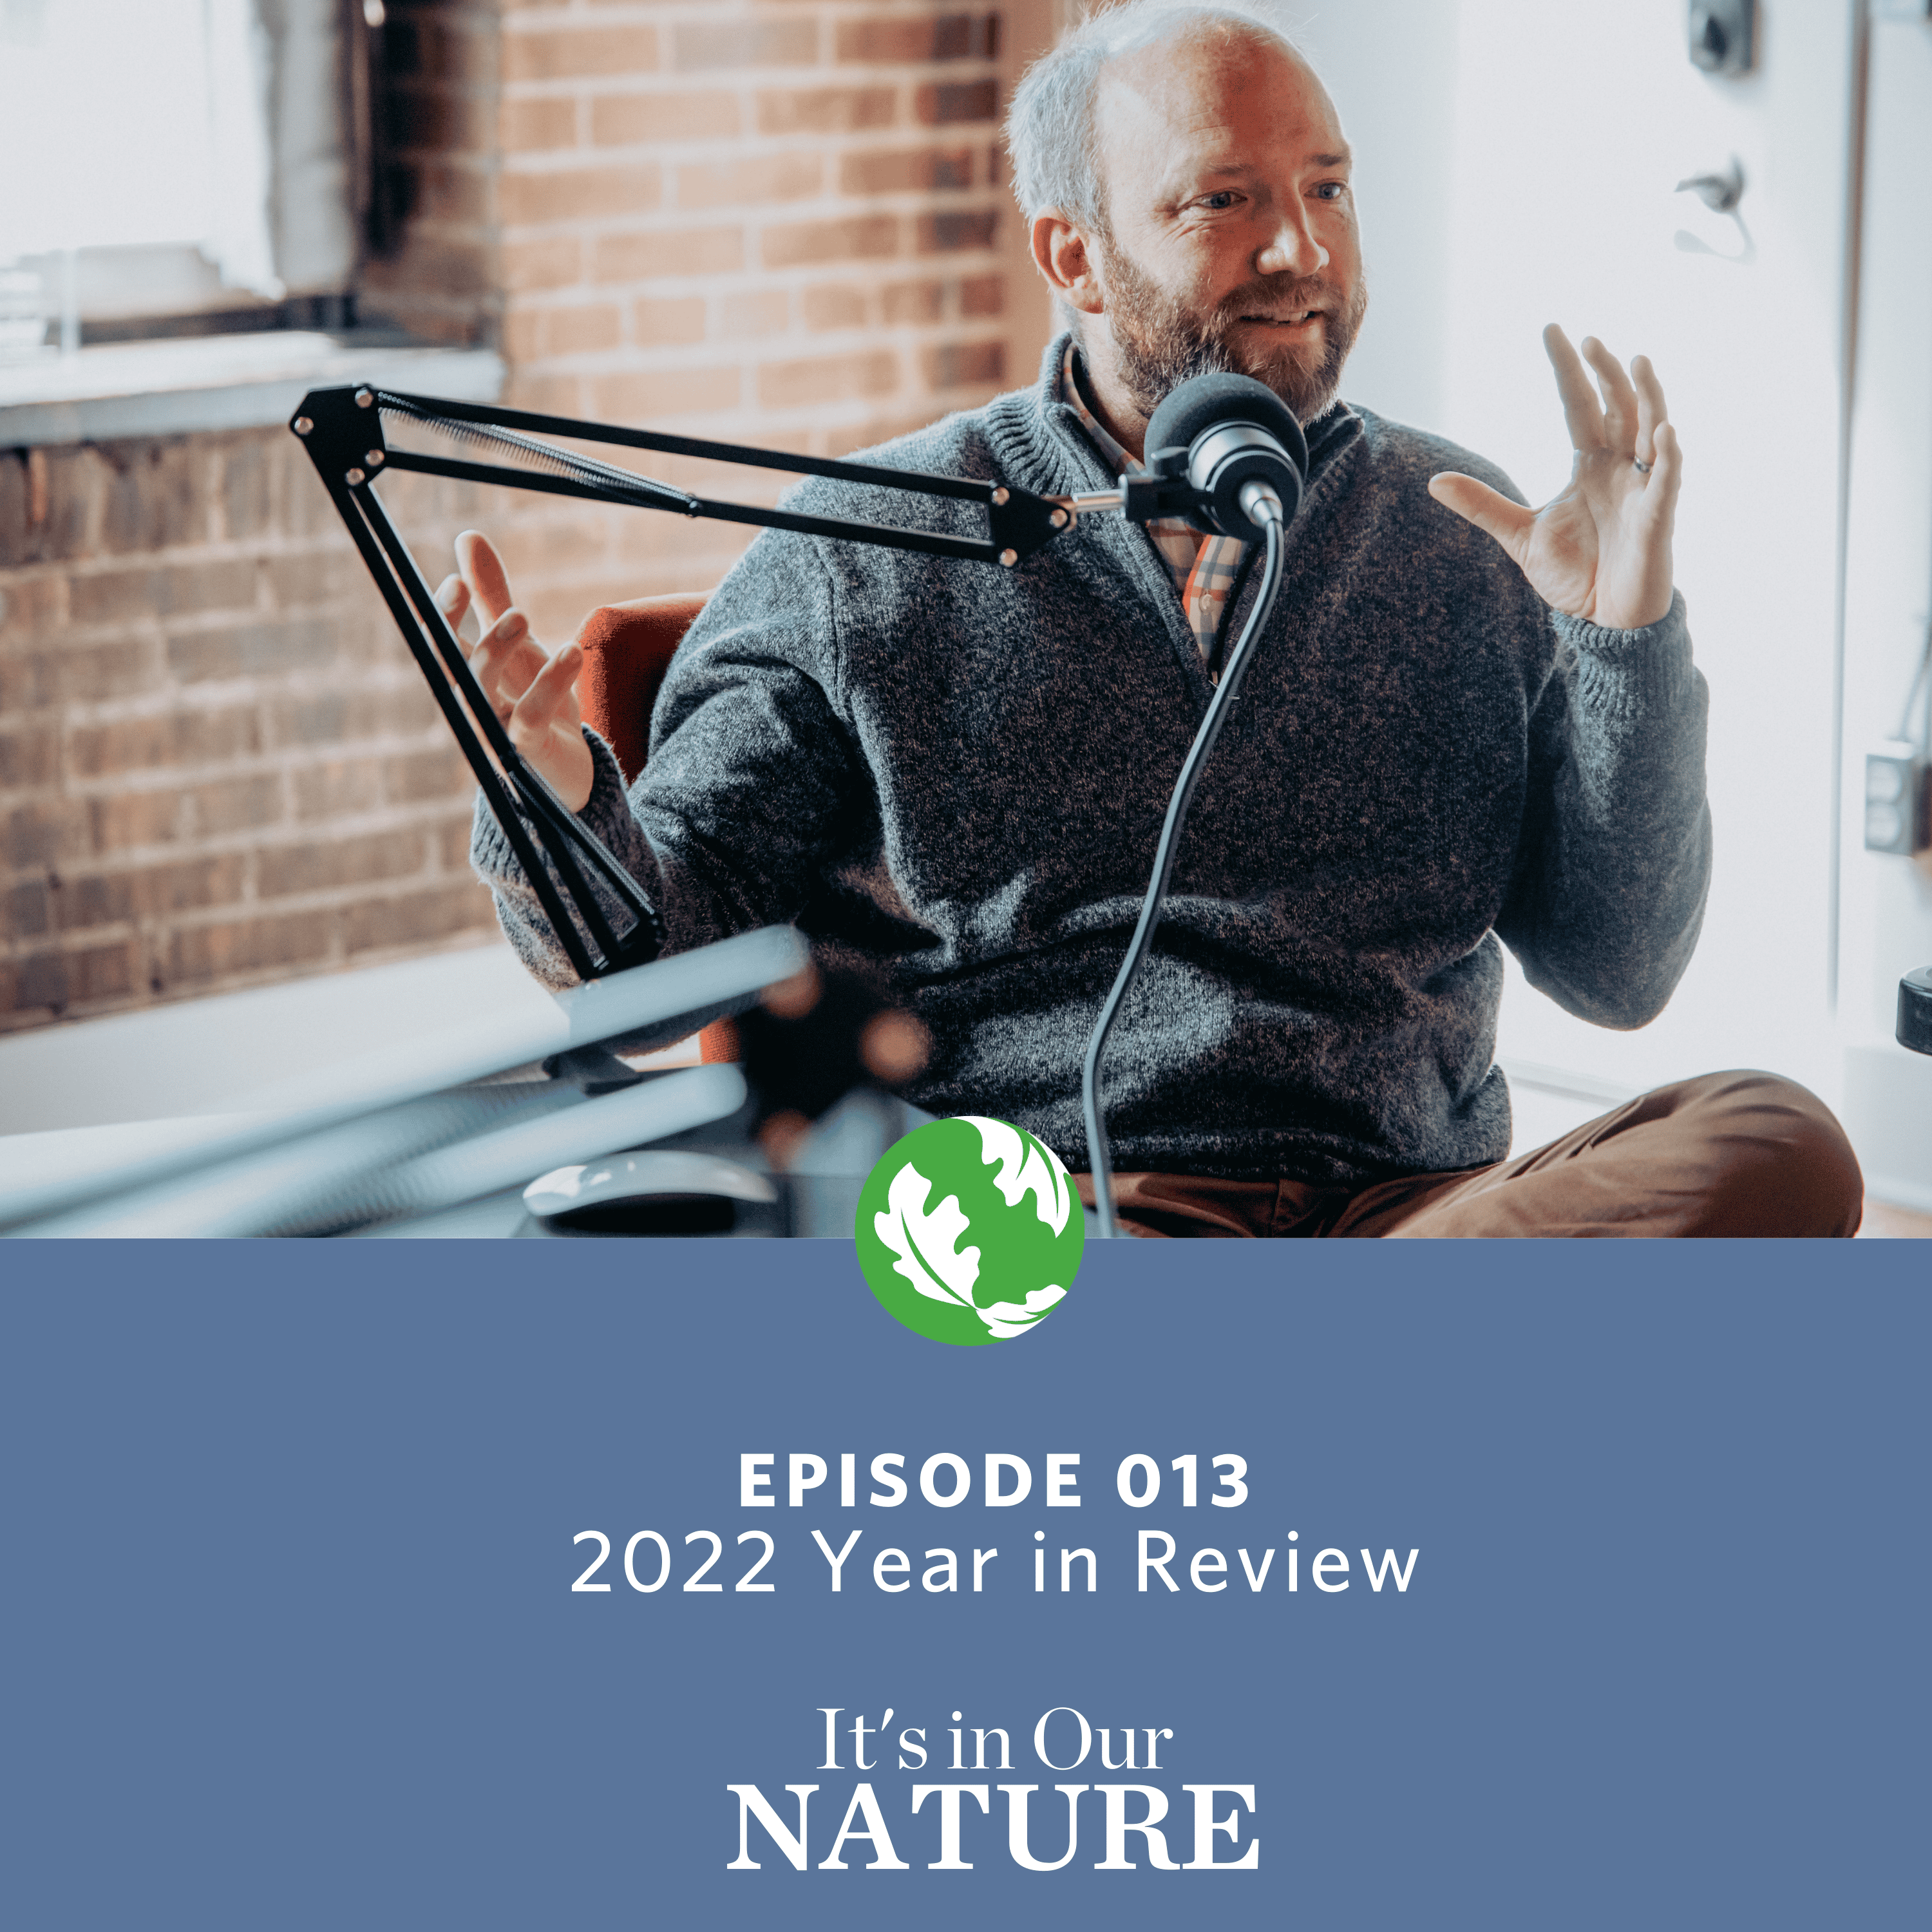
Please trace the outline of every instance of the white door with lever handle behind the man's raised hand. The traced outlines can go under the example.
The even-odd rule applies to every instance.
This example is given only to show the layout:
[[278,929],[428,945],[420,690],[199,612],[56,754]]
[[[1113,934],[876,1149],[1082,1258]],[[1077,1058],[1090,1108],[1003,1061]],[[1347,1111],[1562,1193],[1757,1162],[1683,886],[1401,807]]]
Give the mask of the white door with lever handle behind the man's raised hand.
[[[1830,1009],[1835,506],[1851,0],[1766,0],[1747,79],[1681,0],[1463,0],[1447,423],[1530,500],[1569,471],[1546,321],[1642,350],[1687,454],[1677,582],[1712,688],[1716,877],[1669,1010],[1604,1034],[1513,981],[1505,1057],[1629,1088],[1756,1065],[1837,1097]],[[1756,259],[1690,174],[1739,156]]]

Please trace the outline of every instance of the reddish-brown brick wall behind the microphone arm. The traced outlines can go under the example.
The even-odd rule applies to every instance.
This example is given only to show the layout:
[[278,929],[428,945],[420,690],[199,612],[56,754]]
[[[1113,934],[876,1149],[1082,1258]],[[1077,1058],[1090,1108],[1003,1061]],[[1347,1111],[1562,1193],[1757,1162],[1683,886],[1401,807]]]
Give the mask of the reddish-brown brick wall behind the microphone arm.
[[[997,116],[1061,0],[390,0],[408,220],[365,305],[512,402],[844,452],[1034,373]],[[767,498],[781,479],[655,473]],[[394,477],[547,636],[748,533]],[[0,1028],[493,931],[469,779],[292,439],[0,452]]]

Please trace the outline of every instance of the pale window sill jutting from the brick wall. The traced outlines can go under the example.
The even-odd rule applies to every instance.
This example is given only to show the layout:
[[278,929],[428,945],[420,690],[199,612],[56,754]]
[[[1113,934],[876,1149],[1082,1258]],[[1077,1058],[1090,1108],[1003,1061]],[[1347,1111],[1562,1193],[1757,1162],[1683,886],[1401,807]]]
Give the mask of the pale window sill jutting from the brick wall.
[[0,363],[0,448],[263,429],[336,383],[495,402],[502,377],[495,350],[425,348],[386,330],[114,342]]

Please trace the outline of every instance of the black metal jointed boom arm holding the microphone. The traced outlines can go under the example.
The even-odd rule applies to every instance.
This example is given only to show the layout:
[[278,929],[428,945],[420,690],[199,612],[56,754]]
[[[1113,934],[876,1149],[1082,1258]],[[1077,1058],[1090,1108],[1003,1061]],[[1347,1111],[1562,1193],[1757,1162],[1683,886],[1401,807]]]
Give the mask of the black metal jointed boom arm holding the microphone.
[[[392,448],[386,417],[404,417],[440,429],[452,437],[506,450],[526,464],[464,462],[421,450]],[[554,497],[583,497],[589,502],[630,504],[643,510],[674,510],[680,516],[717,518],[728,524],[757,524],[794,529],[811,537],[842,537],[877,543],[927,556],[956,556],[1012,568],[1022,558],[1072,529],[1076,510],[1034,497],[999,481],[925,475],[910,469],[883,469],[875,464],[846,464],[817,456],[757,450],[738,442],[709,442],[699,437],[667,437],[647,429],[612,429],[582,423],[568,415],[537,415],[529,410],[491,410],[440,396],[408,396],[384,388],[317,388],[301,400],[288,425],[315,464],[328,500],[336,506],[361,560],[388,605],[402,641],[442,711],[444,723],[462,746],[469,769],[516,852],[572,970],[580,980],[599,980],[626,966],[657,956],[661,935],[657,918],[638,881],[616,854],[583,825],[533,771],[510,742],[500,719],[483,697],[454,632],[444,620],[408,545],[388,520],[377,497],[377,481],[390,469],[458,477],[469,483],[498,483],[508,489],[547,491]],[[844,518],[798,516],[742,502],[713,502],[688,491],[655,483],[612,464],[601,464],[576,450],[562,450],[541,437],[572,437],[583,442],[612,442],[668,456],[701,456],[711,462],[742,464],[753,469],[788,469],[798,475],[838,477],[846,483],[873,483],[883,489],[912,491],[922,497],[951,497],[985,504],[987,535],[947,537],[891,524],[862,524]],[[612,927],[599,904],[603,889],[628,923]]]

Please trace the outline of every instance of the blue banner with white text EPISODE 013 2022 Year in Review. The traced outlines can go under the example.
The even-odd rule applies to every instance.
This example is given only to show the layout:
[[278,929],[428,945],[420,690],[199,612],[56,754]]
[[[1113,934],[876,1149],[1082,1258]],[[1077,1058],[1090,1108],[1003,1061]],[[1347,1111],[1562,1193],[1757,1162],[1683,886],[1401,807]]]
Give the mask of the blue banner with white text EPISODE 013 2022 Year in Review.
[[4,1917],[1922,1917],[1911,1244],[15,1244]]

